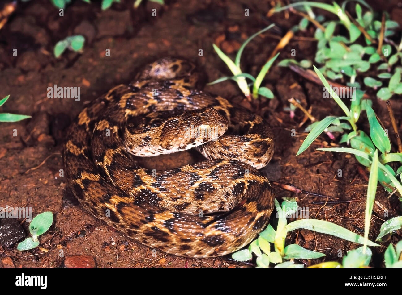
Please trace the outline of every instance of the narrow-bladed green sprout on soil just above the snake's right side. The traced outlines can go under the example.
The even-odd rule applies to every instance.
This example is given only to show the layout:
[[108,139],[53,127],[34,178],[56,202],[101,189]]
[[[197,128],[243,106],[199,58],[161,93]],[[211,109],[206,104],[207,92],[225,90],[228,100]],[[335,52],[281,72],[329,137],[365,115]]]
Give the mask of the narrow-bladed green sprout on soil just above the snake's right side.
[[232,79],[232,80],[236,81],[237,85],[239,86],[240,90],[242,90],[244,95],[246,97],[249,97],[250,96],[250,88],[249,88],[248,83],[246,82],[246,78],[248,78],[252,81],[252,84],[253,84],[253,88],[252,88],[253,98],[258,98],[258,95],[262,95],[267,98],[273,98],[274,95],[273,95],[272,91],[267,87],[260,87],[260,85],[261,85],[265,75],[269,71],[269,68],[271,67],[271,65],[273,64],[275,59],[278,57],[279,53],[277,55],[275,55],[273,58],[269,59],[269,61],[267,61],[267,63],[265,63],[265,65],[261,68],[261,71],[257,75],[256,78],[254,78],[252,75],[250,75],[248,73],[243,73],[243,71],[240,69],[240,58],[242,57],[242,53],[243,53],[243,50],[246,47],[246,45],[252,39],[254,39],[256,36],[260,35],[261,33],[264,33],[265,31],[269,30],[273,26],[274,26],[274,24],[267,26],[266,28],[262,29],[261,31],[258,31],[257,33],[252,35],[250,38],[248,38],[246,41],[244,41],[244,43],[240,47],[234,61],[232,61],[232,59],[230,59],[230,57],[228,57],[225,53],[223,53],[223,51],[220,50],[219,47],[217,47],[215,44],[213,44],[212,45],[213,49],[215,49],[216,53],[222,59],[222,61],[224,61],[224,63],[226,63],[226,65],[228,66],[230,71],[232,71],[234,76],[221,77],[211,83],[208,83],[208,85],[212,85],[212,84],[219,83],[219,82],[222,82],[222,81],[225,81],[228,79]]

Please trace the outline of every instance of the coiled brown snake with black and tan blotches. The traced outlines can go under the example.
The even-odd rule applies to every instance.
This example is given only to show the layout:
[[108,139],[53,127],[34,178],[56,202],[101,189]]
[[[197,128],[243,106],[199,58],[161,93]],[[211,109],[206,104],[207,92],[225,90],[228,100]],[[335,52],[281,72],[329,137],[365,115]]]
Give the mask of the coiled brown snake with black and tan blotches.
[[[96,218],[163,252],[212,257],[267,225],[274,195],[257,169],[274,139],[260,116],[195,90],[198,79],[184,59],[147,65],[80,112],[63,154],[72,192]],[[193,147],[207,160],[157,172],[133,161]]]

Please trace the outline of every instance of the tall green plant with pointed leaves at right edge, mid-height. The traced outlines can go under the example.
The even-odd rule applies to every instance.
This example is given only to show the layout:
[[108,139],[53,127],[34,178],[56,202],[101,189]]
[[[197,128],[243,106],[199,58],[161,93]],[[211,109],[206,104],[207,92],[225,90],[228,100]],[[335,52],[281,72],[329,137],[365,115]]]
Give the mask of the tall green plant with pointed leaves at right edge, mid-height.
[[[328,126],[335,124],[339,126],[340,121],[346,121],[347,125],[344,125],[341,130],[335,130],[343,132],[344,129],[353,129],[349,133],[343,134],[339,143],[350,144],[351,148],[324,148],[318,149],[319,151],[332,151],[340,153],[352,153],[355,155],[357,161],[365,167],[370,167],[373,163],[376,149],[380,151],[378,160],[378,181],[388,192],[392,192],[395,188],[402,196],[402,185],[396,177],[400,175],[402,171],[402,165],[394,171],[388,164],[390,162],[399,162],[402,164],[402,153],[390,153],[391,142],[388,138],[388,132],[384,130],[379,124],[374,110],[371,108],[371,100],[362,100],[363,92],[357,91],[355,97],[351,100],[351,107],[347,108],[345,103],[340,100],[339,96],[332,90],[328,81],[324,78],[322,73],[314,66],[316,74],[324,84],[326,91],[330,94],[340,108],[345,112],[346,116],[335,117],[328,116],[320,122],[314,122],[310,126],[311,131],[301,144],[297,155],[303,153],[310,144],[320,135],[322,132],[328,131]],[[370,125],[370,136],[368,136],[363,130],[358,130],[356,122],[359,119],[361,111],[365,110]],[[347,128],[345,127],[347,126]]]

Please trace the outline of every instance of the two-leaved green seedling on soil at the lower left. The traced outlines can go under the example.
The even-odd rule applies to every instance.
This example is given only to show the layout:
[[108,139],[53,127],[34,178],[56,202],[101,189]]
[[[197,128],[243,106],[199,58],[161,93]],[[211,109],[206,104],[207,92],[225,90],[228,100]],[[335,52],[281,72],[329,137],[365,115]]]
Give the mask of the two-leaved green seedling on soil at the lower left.
[[53,223],[53,213],[52,212],[43,212],[38,214],[33,218],[31,223],[29,224],[29,232],[32,235],[31,237],[26,238],[21,243],[18,244],[17,249],[20,251],[30,250],[39,246],[38,236],[47,232]]

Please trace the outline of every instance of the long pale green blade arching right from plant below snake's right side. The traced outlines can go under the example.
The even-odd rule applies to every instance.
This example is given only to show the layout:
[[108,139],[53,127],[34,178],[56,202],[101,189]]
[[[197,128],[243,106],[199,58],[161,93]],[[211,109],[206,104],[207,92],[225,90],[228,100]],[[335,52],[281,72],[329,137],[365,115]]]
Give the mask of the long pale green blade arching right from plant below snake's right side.
[[[337,224],[333,224],[331,222],[325,220],[316,220],[316,219],[299,219],[289,223],[285,226],[285,229],[290,232],[292,230],[297,230],[299,228],[305,228],[307,230],[313,230],[315,232],[321,232],[323,234],[330,234],[332,236],[336,236],[338,238],[363,244],[364,238],[343,228],[342,226],[338,226]],[[369,246],[379,246],[374,242],[368,241],[367,245]]]

